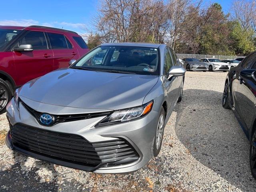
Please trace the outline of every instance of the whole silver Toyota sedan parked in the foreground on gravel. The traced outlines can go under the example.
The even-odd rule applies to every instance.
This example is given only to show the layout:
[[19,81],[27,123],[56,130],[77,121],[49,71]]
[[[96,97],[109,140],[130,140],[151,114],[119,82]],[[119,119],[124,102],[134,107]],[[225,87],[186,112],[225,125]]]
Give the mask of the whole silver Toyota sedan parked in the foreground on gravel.
[[184,74],[165,44],[102,44],[15,91],[6,145],[91,172],[138,170],[160,152]]

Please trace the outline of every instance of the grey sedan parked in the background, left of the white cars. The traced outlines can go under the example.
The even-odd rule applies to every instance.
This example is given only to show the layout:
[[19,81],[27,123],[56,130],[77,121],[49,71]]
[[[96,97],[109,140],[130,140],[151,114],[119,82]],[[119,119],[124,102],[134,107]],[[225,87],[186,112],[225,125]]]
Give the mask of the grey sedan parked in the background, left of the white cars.
[[193,70],[199,70],[199,71],[207,71],[208,70],[208,64],[199,61],[195,58],[184,58],[182,59],[183,67],[187,71],[193,71]]

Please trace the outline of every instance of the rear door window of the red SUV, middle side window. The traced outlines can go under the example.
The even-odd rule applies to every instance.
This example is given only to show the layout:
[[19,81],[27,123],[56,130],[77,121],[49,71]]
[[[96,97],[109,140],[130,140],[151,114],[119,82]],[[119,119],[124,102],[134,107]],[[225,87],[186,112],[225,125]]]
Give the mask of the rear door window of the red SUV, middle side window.
[[57,33],[47,33],[51,48],[52,49],[67,49],[68,44],[66,42],[66,38],[62,34],[57,34]]

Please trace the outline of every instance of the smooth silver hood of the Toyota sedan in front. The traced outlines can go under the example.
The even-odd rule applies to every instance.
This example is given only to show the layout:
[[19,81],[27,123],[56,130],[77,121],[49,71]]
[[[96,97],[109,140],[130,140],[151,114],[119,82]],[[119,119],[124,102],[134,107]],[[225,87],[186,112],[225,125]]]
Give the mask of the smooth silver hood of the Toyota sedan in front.
[[22,86],[36,102],[76,108],[122,109],[142,105],[158,76],[59,69]]

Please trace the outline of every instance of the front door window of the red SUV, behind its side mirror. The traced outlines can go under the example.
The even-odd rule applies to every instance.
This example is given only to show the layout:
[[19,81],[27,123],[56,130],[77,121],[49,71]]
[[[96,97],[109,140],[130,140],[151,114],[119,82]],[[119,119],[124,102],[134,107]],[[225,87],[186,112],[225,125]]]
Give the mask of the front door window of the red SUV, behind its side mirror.
[[18,42],[14,45],[14,47],[18,47],[20,45],[32,45],[34,50],[46,50],[48,49],[46,38],[44,32],[31,31],[22,37]]

